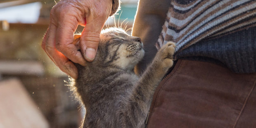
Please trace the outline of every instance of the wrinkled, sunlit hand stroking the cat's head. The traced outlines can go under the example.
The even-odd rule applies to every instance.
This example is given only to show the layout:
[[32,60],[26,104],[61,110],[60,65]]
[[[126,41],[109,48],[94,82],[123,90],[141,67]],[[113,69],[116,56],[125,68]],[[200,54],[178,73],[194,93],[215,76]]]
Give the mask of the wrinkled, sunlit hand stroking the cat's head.
[[[76,79],[78,71],[73,62],[85,66],[85,61],[93,61],[111,8],[112,0],[61,0],[51,9],[42,48],[59,69]],[[72,44],[78,24],[85,26],[81,52]]]

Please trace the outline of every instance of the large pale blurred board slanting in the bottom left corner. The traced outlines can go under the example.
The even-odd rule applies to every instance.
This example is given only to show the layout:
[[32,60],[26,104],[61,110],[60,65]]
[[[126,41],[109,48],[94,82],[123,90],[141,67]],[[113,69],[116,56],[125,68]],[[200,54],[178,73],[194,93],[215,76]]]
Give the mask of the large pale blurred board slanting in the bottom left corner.
[[0,128],[49,128],[21,82],[0,82]]

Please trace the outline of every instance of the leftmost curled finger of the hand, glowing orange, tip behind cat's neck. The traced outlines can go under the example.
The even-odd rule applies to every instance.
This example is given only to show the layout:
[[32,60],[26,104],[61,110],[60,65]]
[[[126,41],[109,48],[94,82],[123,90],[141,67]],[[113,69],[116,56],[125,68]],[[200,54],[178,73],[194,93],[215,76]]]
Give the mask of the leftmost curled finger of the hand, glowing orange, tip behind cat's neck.
[[55,62],[60,70],[69,74],[72,78],[77,78],[78,71],[76,66],[68,58],[66,58],[61,52],[55,48],[57,26],[50,24],[49,30],[46,35],[45,51],[50,58]]

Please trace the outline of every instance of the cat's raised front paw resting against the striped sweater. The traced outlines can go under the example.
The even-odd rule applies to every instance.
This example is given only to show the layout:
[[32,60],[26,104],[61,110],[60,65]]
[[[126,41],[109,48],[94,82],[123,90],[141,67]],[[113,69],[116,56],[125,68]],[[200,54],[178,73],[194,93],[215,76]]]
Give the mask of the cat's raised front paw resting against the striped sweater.
[[173,66],[173,54],[175,52],[175,43],[168,42],[158,51],[157,56],[161,61],[162,66],[170,68]]

